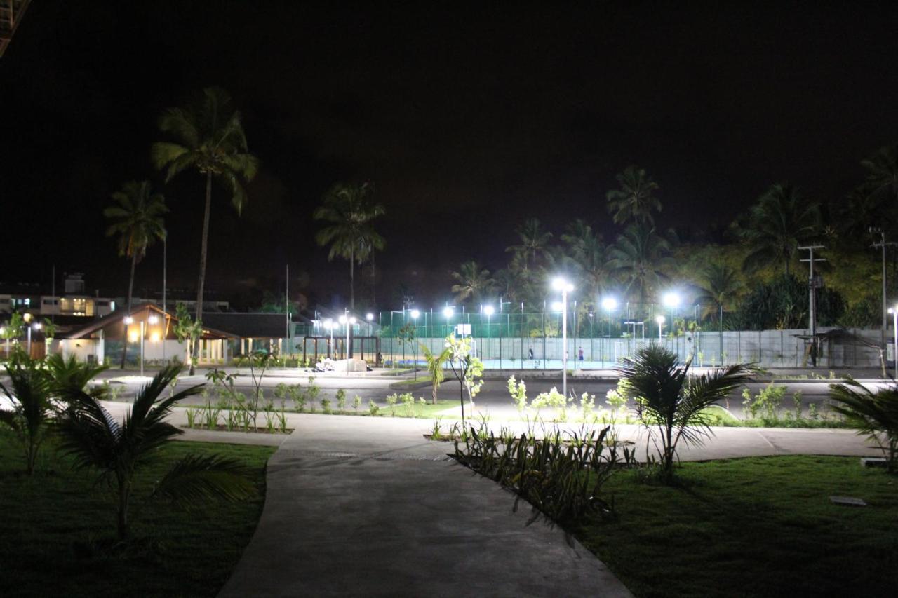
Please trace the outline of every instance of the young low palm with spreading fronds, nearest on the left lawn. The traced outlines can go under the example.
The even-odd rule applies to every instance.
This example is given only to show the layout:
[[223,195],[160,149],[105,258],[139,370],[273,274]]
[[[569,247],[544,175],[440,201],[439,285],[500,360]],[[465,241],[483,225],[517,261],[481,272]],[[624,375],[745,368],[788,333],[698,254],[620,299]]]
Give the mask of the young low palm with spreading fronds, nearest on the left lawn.
[[[180,365],[170,365],[137,392],[130,413],[116,421],[102,406],[101,392],[88,393],[73,384],[63,390],[70,407],[60,418],[62,450],[74,457],[75,468],[99,470],[100,480],[113,484],[118,495],[119,540],[128,537],[128,504],[136,470],[159,456],[159,449],[183,430],[165,422],[179,400],[197,394],[202,384],[160,400]],[[240,462],[218,455],[188,455],[157,481],[153,497],[182,505],[211,498],[240,500],[254,492]]]

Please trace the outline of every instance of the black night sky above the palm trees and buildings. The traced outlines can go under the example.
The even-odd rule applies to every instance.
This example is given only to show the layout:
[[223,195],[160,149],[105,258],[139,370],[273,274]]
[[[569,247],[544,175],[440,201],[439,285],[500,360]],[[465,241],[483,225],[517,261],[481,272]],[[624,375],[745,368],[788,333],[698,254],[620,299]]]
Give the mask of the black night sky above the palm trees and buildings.
[[[779,180],[841,198],[898,139],[895,3],[489,4],[32,3],[0,58],[0,280],[55,263],[122,293],[101,208],[150,178],[172,285],[191,286],[202,186],[163,187],[148,154],[163,108],[209,84],[262,162],[242,217],[216,191],[209,288],[275,290],[289,262],[322,303],[348,278],[312,239],[337,180],[373,180],[387,208],[381,295],[424,300],[464,259],[501,267],[525,217],[612,237],[603,197],[630,163],[660,184],[662,224],[700,228]],[[138,286],[161,286],[161,254]]]

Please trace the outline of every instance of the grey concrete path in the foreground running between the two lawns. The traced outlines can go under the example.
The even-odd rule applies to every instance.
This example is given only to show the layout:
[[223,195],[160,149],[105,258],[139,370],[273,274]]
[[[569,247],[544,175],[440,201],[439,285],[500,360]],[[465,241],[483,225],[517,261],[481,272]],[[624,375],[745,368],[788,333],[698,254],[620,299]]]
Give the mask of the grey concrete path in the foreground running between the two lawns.
[[629,596],[559,528],[445,456],[427,422],[307,415],[220,596]]

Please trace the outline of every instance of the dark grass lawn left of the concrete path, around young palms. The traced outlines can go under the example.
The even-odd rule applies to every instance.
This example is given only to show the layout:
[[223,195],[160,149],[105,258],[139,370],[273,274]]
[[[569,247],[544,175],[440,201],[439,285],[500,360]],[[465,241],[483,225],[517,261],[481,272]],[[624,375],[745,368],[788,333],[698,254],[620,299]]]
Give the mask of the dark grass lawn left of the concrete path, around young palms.
[[[111,549],[115,501],[75,473],[46,445],[40,470],[24,475],[19,447],[0,433],[0,595],[214,596],[249,543],[265,497],[273,447],[171,442],[161,462],[138,473],[132,495],[133,541]],[[146,501],[154,479],[187,453],[222,453],[253,470],[260,489],[245,503],[210,503],[184,512]]]

